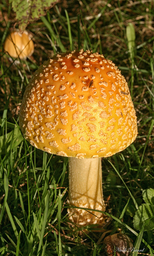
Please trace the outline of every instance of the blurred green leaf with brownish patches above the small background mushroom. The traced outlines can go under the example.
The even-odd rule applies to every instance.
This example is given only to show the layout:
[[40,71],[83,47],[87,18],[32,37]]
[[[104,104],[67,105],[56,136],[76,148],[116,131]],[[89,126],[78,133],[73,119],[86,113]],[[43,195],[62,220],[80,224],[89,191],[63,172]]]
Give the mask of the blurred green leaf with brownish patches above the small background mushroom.
[[58,0],[9,0],[16,12],[16,19],[20,23],[20,29],[25,30],[26,26],[39,17],[44,16],[46,11],[53,7]]

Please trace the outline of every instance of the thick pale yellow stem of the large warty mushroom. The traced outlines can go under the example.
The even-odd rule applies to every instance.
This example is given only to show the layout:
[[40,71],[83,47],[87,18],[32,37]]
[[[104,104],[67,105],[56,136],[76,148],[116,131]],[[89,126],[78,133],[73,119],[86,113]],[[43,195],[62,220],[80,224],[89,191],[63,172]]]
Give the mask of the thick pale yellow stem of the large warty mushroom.
[[[69,158],[69,204],[105,211],[101,158]],[[101,224],[104,214],[69,208],[70,220],[81,225]]]

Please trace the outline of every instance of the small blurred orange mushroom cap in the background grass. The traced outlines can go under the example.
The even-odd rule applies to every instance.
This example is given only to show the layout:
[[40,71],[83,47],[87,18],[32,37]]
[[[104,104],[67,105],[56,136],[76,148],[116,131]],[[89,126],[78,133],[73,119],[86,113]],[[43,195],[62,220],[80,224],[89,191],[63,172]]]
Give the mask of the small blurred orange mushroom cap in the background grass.
[[18,30],[11,32],[4,42],[4,50],[12,58],[24,59],[34,52],[34,43],[27,31],[20,33]]

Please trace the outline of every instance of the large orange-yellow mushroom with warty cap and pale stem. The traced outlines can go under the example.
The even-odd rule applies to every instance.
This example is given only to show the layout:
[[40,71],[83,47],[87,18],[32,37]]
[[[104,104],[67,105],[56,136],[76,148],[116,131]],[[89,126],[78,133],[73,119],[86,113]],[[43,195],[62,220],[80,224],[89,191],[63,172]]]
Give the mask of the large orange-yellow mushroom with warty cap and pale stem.
[[[35,72],[21,105],[25,138],[50,154],[69,157],[69,218],[101,224],[105,215],[101,157],[137,136],[134,106],[124,76],[102,54],[57,54]],[[90,208],[84,210],[80,208]]]

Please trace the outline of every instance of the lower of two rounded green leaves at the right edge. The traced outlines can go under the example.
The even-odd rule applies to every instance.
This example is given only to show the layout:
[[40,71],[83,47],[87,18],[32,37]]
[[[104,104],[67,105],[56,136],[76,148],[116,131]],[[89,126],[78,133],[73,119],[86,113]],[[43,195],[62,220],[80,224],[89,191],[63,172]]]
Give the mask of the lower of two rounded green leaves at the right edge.
[[144,230],[149,231],[154,229],[154,206],[150,204],[142,204],[135,212],[133,219],[134,228],[141,230],[145,223]]

